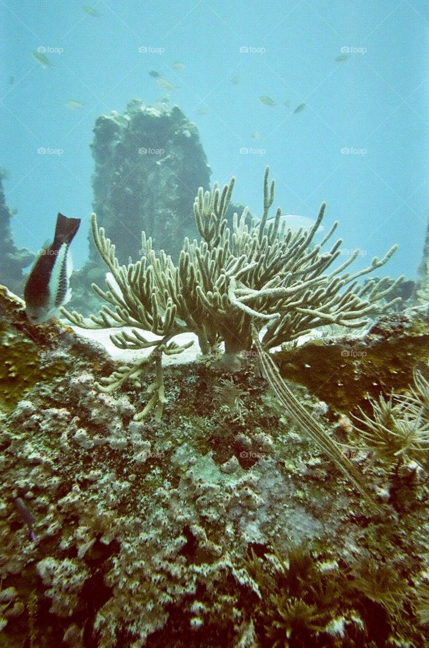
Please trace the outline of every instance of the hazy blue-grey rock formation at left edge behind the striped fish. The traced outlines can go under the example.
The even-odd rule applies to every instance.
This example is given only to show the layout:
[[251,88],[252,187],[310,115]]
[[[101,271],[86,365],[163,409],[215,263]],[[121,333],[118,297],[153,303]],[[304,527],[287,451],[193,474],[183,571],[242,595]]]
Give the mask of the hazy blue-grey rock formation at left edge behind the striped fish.
[[0,281],[15,294],[21,295],[24,290],[23,268],[29,266],[34,254],[27,248],[18,249],[14,244],[10,228],[13,215],[6,205],[3,176],[0,173]]

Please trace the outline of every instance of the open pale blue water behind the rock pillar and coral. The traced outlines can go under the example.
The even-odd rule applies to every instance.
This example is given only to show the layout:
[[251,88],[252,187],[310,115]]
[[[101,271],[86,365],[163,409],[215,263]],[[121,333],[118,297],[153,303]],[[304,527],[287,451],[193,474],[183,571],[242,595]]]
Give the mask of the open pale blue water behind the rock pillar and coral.
[[[212,180],[237,176],[237,202],[261,213],[268,164],[283,213],[314,217],[327,200],[325,229],[339,220],[345,248],[365,251],[356,268],[398,242],[381,273],[415,275],[429,213],[427,1],[115,0],[94,2],[97,17],[83,4],[0,3],[0,166],[18,246],[51,239],[58,211],[87,220],[95,119],[134,97],[159,100],[156,69],[198,126]],[[52,67],[32,57],[39,47]],[[77,267],[86,239],[81,227]]]

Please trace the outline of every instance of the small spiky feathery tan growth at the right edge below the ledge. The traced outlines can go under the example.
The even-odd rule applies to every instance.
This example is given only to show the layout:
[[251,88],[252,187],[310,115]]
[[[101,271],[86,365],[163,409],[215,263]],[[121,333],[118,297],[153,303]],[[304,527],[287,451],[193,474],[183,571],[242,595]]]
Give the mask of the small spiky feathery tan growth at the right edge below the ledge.
[[416,461],[429,450],[429,382],[416,371],[410,396],[392,394],[389,400],[370,399],[372,416],[361,408],[359,430],[365,445],[386,461],[395,464],[408,457]]

